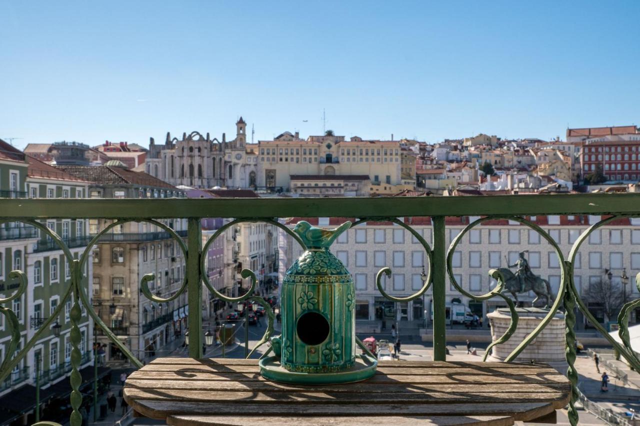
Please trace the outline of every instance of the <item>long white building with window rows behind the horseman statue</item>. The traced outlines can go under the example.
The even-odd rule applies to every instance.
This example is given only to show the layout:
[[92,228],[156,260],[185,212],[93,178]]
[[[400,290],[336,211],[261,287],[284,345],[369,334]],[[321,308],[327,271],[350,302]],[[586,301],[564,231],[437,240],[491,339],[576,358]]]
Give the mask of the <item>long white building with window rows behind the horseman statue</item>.
[[[454,238],[471,221],[478,217],[447,217],[447,248]],[[550,236],[559,243],[564,256],[573,242],[589,225],[600,220],[600,216],[538,216],[528,217],[533,223],[547,230]],[[301,218],[289,221],[293,226]],[[346,218],[312,218],[312,225],[334,228]],[[405,223],[419,232],[429,244],[432,244],[432,227],[429,218],[406,218]],[[577,257],[575,269],[575,285],[581,292],[589,310],[596,318],[605,321],[602,306],[596,301],[588,301],[586,289],[590,282],[607,280],[605,269],[612,271],[612,280],[620,280],[625,269],[630,282],[640,272],[640,221],[621,219],[606,225],[591,234],[589,241],[582,245]],[[380,319],[380,308],[385,315],[399,322],[424,319],[426,310],[430,320],[431,289],[424,296],[408,303],[393,303],[384,299],[376,288],[376,273],[383,267],[392,269],[392,277],[386,282],[386,291],[392,296],[409,296],[422,287],[420,274],[428,272],[428,260],[417,239],[399,225],[392,223],[367,223],[358,225],[345,232],[333,243],[332,253],[336,255],[353,275],[356,287],[356,319]],[[520,251],[528,250],[527,259],[532,272],[547,279],[554,295],[560,283],[561,269],[559,261],[550,244],[543,237],[518,223],[507,220],[493,220],[476,226],[458,245],[452,258],[452,266],[456,281],[472,294],[481,295],[495,286],[488,271],[498,267],[514,264]],[[301,254],[301,249],[287,237],[287,261]],[[512,268],[515,271],[515,268]],[[448,281],[448,278],[447,278]],[[497,307],[506,307],[499,297],[484,303],[464,297],[453,285],[447,282],[447,303],[460,301],[472,312],[484,317]],[[627,285],[627,300],[640,297],[635,285]],[[520,300],[531,302],[532,294],[520,295]],[[458,299],[458,300],[456,300]],[[640,319],[640,312],[632,315],[631,322]],[[612,319],[613,320],[613,319]],[[486,324],[486,322],[484,322]],[[578,315],[578,324],[584,327],[582,315]],[[580,327],[580,325],[579,325]]]

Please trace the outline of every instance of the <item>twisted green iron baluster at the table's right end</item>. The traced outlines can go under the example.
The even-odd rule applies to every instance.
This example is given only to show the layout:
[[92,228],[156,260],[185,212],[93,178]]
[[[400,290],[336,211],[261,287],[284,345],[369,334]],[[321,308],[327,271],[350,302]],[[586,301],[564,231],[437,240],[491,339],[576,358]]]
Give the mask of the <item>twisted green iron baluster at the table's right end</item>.
[[571,383],[571,398],[569,400],[568,417],[572,426],[578,424],[578,411],[575,409],[575,402],[578,400],[578,372],[574,367],[575,363],[575,297],[573,297],[573,291],[575,286],[573,285],[573,264],[566,260],[566,267],[568,271],[568,286],[564,290],[563,304],[564,304],[564,340],[566,348],[564,349],[564,358],[568,364],[566,370],[566,377]]

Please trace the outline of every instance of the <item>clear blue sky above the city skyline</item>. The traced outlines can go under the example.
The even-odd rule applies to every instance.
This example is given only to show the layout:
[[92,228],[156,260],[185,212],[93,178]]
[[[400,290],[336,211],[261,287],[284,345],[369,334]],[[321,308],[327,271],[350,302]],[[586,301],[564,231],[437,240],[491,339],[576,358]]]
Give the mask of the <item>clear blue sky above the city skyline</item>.
[[[640,1],[9,1],[0,138],[327,128],[436,142],[640,124]],[[308,122],[303,122],[308,120]]]

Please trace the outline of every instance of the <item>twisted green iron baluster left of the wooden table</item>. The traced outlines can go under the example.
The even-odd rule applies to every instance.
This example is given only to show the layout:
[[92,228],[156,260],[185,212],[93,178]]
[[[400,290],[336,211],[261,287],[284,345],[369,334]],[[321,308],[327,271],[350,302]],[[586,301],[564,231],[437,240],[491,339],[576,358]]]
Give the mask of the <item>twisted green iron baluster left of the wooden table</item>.
[[71,407],[73,408],[73,412],[71,413],[70,423],[71,426],[81,426],[82,425],[82,416],[80,414],[80,406],[82,404],[82,393],[80,393],[80,385],[82,384],[82,376],[78,371],[80,367],[80,363],[82,360],[82,354],[80,352],[80,344],[82,342],[82,336],[80,334],[80,329],[78,324],[82,317],[82,312],[80,309],[80,271],[79,271],[79,262],[78,260],[74,260],[71,264],[71,276],[72,276],[72,287],[74,288],[74,306],[71,308],[70,319],[71,319]]

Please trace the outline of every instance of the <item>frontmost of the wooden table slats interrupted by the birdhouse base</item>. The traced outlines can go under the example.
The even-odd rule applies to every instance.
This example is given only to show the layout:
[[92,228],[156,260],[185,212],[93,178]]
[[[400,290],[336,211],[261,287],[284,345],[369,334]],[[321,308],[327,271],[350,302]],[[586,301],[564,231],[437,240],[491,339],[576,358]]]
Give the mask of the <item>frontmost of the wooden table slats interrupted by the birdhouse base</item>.
[[[266,382],[258,373],[255,374],[216,374],[213,372],[133,372],[129,379],[138,380],[203,380],[221,382]],[[127,381],[129,380],[127,379]],[[472,374],[447,374],[447,375],[374,375],[367,380],[367,384],[428,384],[428,383],[566,383],[566,377],[556,373],[540,375],[472,375]]]

